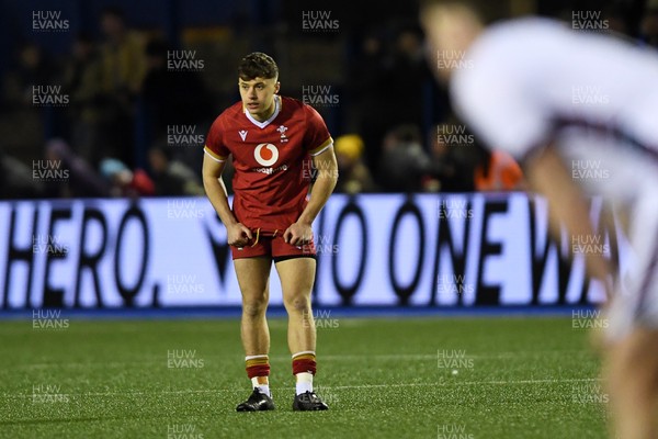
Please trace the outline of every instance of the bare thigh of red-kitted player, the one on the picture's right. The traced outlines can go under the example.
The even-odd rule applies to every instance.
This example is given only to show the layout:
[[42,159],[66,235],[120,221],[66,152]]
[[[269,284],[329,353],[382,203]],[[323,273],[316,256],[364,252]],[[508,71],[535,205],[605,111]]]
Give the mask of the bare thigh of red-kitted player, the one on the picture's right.
[[310,257],[286,258],[276,261],[283,300],[288,305],[308,302],[316,273],[316,260]]

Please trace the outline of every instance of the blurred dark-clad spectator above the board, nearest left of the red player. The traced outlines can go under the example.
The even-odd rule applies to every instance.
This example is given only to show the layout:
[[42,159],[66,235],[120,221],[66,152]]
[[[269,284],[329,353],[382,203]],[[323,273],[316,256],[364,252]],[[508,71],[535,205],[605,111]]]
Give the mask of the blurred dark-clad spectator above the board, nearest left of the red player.
[[166,147],[152,147],[148,161],[154,176],[155,194],[180,196],[203,195],[204,189],[194,171],[179,160],[172,160]]

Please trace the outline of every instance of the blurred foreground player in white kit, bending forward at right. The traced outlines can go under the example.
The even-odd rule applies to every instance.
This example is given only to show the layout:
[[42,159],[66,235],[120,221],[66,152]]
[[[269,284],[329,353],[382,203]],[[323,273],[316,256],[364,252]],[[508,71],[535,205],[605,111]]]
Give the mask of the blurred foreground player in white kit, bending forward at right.
[[[611,435],[658,438],[658,55],[547,19],[486,26],[487,7],[423,3],[421,22],[443,60],[436,74],[476,135],[521,160],[554,226],[592,235],[583,195],[593,194],[628,219],[632,274],[609,306]],[[610,290],[605,257],[588,254],[586,263]]]

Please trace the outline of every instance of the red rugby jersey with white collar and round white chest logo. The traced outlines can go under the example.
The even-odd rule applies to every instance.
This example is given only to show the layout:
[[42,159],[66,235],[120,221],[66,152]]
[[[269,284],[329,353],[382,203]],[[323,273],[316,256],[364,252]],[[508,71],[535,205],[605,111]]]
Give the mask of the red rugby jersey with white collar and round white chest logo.
[[204,148],[217,161],[232,156],[234,214],[261,233],[284,232],[297,221],[307,203],[310,156],[333,142],[311,106],[292,98],[274,100],[274,114],[264,122],[242,102],[229,106],[211,126]]

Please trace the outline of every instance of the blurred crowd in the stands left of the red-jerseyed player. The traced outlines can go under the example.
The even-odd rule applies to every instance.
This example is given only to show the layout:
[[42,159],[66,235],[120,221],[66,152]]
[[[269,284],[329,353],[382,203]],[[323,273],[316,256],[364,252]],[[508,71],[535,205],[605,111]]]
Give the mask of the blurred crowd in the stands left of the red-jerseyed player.
[[[129,30],[120,9],[105,9],[100,29],[100,42],[77,35],[64,63],[52,61],[34,43],[19,48],[18,67],[2,83],[2,117],[23,114],[21,121],[30,123],[16,130],[43,132],[44,109],[34,104],[32,86],[60,85],[57,93],[67,101],[57,123],[64,130],[46,142],[21,135],[27,147],[15,156],[0,144],[0,198],[203,194],[193,170],[200,160],[190,159],[200,150],[166,140],[168,125],[208,126],[214,115],[203,81],[194,71],[168,71],[167,43]],[[150,122],[146,169],[136,166],[134,154],[138,112]],[[65,169],[65,177],[35,178],[35,161]]]

